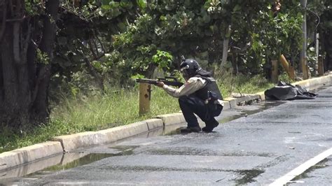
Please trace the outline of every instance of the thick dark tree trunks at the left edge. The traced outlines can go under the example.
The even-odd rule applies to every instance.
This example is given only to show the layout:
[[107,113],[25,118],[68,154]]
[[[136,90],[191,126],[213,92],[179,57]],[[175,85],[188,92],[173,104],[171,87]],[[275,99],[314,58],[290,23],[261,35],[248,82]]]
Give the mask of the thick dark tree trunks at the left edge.
[[48,85],[59,0],[0,2],[0,124],[48,122]]

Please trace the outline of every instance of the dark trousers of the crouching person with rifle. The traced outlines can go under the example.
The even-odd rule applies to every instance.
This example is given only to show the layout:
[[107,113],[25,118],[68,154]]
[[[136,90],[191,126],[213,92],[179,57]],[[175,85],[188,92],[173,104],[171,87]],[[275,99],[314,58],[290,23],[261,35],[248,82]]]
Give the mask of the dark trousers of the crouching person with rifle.
[[184,119],[188,123],[188,127],[199,126],[198,120],[194,115],[195,113],[205,122],[206,127],[213,128],[213,125],[217,122],[214,117],[218,116],[221,110],[223,110],[223,106],[219,104],[205,104],[202,99],[196,96],[181,96],[179,98],[179,105],[184,114]]

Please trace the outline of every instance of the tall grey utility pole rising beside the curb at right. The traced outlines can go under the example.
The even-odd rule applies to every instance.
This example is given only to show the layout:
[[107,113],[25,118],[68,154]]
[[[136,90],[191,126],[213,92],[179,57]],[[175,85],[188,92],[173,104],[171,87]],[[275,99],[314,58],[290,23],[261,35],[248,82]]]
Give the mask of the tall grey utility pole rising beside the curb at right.
[[305,9],[303,15],[303,24],[302,24],[302,31],[303,31],[303,46],[300,53],[300,62],[302,66],[302,73],[303,79],[306,80],[309,78],[308,68],[307,68],[307,0],[302,0],[301,2],[303,8]]

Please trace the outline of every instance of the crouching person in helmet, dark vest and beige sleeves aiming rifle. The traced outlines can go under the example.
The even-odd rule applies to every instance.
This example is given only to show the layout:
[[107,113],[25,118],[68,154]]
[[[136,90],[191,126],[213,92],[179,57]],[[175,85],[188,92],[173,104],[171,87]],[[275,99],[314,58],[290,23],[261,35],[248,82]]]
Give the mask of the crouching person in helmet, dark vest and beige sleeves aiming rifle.
[[188,123],[188,127],[181,132],[201,131],[194,113],[205,122],[202,130],[211,132],[219,124],[214,117],[220,115],[223,110],[223,97],[216,80],[212,78],[211,73],[201,69],[194,59],[186,59],[180,67],[186,83],[179,89],[167,85],[162,87],[171,96],[179,98],[181,111]]

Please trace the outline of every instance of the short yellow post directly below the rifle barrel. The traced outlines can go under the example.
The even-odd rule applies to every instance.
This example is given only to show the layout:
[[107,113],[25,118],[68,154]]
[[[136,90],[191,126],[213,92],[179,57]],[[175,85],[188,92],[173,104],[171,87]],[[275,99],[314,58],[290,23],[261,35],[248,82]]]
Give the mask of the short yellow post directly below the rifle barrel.
[[139,115],[144,115],[150,111],[151,85],[139,83]]

